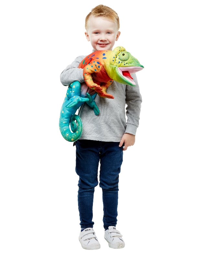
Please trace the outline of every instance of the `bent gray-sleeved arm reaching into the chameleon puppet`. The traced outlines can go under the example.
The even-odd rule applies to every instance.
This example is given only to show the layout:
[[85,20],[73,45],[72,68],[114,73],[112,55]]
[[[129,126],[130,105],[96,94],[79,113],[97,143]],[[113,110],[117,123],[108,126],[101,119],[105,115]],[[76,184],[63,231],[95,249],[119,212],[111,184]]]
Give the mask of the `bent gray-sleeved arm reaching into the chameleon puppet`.
[[78,69],[79,63],[85,58],[85,56],[78,56],[68,65],[65,70],[60,74],[60,81],[63,85],[69,85],[74,81],[84,82],[83,69]]

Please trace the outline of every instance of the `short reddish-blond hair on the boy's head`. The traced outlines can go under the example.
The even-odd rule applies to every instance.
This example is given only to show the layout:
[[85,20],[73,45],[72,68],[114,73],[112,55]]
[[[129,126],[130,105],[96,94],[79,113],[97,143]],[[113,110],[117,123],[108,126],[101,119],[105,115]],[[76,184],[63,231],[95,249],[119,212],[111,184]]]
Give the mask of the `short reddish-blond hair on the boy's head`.
[[118,14],[113,10],[111,9],[110,7],[108,6],[105,6],[105,5],[97,5],[96,7],[94,7],[90,12],[89,14],[86,16],[86,19],[85,19],[85,29],[87,31],[88,29],[88,19],[89,17],[93,15],[94,17],[104,17],[106,19],[109,19],[109,20],[112,20],[116,23],[117,25],[117,29],[119,30],[119,27],[120,27],[120,23],[119,23],[119,17],[118,17]]

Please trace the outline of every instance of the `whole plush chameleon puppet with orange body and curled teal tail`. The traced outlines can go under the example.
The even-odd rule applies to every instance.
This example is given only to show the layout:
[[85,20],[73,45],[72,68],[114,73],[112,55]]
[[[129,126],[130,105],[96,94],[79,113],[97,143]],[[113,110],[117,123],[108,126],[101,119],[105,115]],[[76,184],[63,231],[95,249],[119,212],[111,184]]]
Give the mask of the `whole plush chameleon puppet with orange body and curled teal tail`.
[[113,51],[95,51],[87,55],[78,68],[83,69],[85,82],[80,84],[75,81],[69,85],[60,113],[60,131],[68,141],[76,141],[82,134],[82,121],[75,112],[84,102],[98,115],[99,109],[94,100],[96,93],[100,97],[113,99],[111,94],[106,93],[113,80],[135,86],[130,73],[138,72],[144,67],[124,47],[118,46]]

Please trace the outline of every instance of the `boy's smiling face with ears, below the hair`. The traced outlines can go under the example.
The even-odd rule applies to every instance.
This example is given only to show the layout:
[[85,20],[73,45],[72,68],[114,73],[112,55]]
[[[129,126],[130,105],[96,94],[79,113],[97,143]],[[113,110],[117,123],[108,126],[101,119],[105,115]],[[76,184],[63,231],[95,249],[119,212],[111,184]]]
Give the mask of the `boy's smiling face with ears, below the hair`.
[[115,41],[118,41],[120,32],[115,22],[102,17],[90,16],[86,39],[91,42],[95,51],[112,50]]

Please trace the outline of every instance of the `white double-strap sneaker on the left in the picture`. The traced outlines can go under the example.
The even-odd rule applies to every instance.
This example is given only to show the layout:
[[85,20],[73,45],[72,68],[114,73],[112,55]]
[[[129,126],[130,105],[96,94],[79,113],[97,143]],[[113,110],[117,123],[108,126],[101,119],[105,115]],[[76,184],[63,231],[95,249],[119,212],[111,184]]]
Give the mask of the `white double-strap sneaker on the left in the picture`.
[[79,242],[86,250],[100,249],[100,244],[92,227],[85,228],[79,234]]

